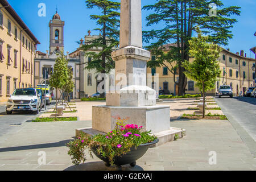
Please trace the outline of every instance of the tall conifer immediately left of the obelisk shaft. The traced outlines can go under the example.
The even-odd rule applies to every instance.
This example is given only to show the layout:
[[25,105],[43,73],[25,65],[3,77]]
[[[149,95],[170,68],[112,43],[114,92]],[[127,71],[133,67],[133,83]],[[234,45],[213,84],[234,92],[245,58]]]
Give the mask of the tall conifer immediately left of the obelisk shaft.
[[[86,64],[85,69],[96,69],[98,73],[109,73],[114,68],[111,53],[119,44],[120,13],[118,13],[118,10],[120,9],[120,3],[108,0],[86,0],[86,6],[88,9],[100,9],[101,14],[90,15],[90,19],[97,20],[99,28],[94,30],[100,31],[100,36],[86,42],[81,47],[86,52],[86,56],[92,57],[92,61]],[[100,48],[101,51],[98,53],[92,52],[90,51],[92,48]],[[105,97],[104,93],[101,94],[101,97]]]

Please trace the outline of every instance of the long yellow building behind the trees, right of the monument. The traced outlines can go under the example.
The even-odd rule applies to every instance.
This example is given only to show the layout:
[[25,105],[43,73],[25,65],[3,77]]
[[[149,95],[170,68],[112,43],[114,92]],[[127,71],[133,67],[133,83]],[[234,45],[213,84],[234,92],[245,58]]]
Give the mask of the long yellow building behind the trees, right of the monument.
[[[168,51],[168,45],[170,46],[170,44],[165,45],[166,51]],[[172,44],[172,46],[174,45]],[[156,59],[156,57],[152,55],[151,59]],[[246,57],[246,55],[243,55],[243,51],[232,53],[223,49],[218,61],[220,62],[221,77],[216,82],[216,88],[207,92],[208,96],[214,96],[218,92],[220,85],[230,85],[233,88],[234,96],[242,95],[246,88],[254,85],[255,74],[251,68],[255,65],[255,59]],[[171,67],[169,63],[166,63],[166,65]],[[167,67],[147,68],[147,73],[152,74],[152,85],[155,85],[154,74],[158,73],[159,88],[165,90],[166,93],[170,92],[170,94],[177,95],[179,88],[174,82],[174,75],[168,71]],[[179,73],[176,72],[176,82],[178,79]],[[190,79],[187,81],[186,94],[200,93],[199,88],[195,86],[195,81]]]

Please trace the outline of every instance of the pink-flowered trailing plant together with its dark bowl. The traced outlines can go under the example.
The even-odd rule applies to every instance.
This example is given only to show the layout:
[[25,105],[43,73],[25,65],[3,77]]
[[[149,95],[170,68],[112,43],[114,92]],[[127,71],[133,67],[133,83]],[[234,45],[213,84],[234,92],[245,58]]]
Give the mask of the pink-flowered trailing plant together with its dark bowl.
[[92,158],[93,153],[108,167],[114,164],[119,167],[130,164],[134,167],[136,160],[146,153],[148,147],[158,143],[158,138],[151,135],[151,131],[143,130],[143,126],[125,125],[129,118],[121,119],[118,115],[114,118],[117,119],[117,124],[113,131],[92,137],[80,133],[78,139],[67,144],[73,164],[79,165],[85,162],[85,149],[87,149]]

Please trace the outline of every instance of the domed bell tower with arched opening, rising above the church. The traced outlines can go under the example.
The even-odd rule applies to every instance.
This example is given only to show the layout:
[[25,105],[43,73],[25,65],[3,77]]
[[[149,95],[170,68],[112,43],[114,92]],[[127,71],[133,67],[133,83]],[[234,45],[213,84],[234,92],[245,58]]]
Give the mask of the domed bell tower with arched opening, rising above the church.
[[54,51],[64,51],[64,21],[61,21],[60,15],[55,13],[52,20],[49,22],[49,53],[52,54]]

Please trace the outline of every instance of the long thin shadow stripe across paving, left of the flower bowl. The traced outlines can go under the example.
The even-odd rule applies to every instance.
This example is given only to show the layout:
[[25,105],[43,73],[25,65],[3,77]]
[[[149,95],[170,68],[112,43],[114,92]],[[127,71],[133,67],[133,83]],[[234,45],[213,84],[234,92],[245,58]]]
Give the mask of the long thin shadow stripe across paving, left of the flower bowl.
[[31,150],[31,149],[38,149],[38,148],[63,147],[63,146],[66,146],[65,144],[68,143],[69,141],[71,140],[63,140],[55,143],[33,144],[30,146],[6,147],[6,148],[0,148],[0,152]]

